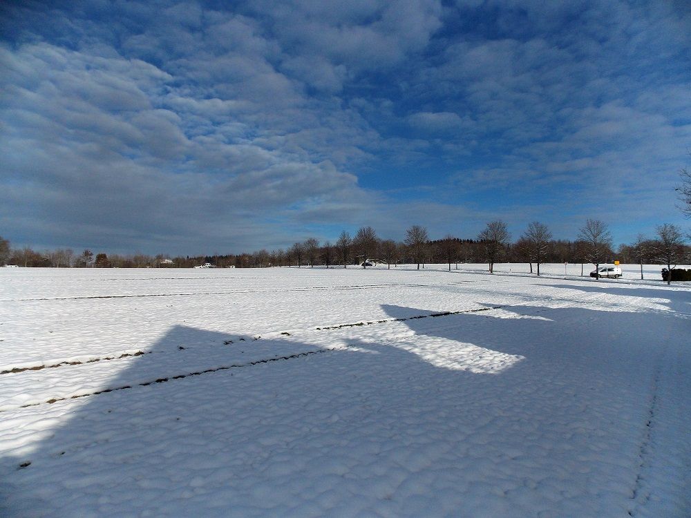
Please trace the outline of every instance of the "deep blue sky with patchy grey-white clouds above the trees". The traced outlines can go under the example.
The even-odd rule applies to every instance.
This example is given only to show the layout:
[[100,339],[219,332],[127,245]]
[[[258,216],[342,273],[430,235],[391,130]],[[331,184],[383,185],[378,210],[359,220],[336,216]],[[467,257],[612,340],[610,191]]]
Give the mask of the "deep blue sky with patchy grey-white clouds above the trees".
[[685,1],[8,1],[0,22],[15,246],[690,226]]

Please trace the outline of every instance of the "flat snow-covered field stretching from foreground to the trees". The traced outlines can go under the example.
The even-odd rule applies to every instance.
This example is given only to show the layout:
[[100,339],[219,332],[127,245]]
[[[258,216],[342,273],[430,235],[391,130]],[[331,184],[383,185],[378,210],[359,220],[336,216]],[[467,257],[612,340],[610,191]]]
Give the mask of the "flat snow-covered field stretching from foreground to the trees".
[[0,515],[688,517],[691,285],[564,267],[0,269]]

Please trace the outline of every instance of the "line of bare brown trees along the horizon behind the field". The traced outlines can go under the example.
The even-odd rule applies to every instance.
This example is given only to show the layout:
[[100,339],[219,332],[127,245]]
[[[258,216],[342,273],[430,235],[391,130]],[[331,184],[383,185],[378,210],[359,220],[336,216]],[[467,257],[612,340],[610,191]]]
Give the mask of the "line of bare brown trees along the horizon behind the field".
[[625,263],[665,264],[671,269],[676,264],[691,262],[690,247],[686,246],[679,227],[663,224],[656,229],[656,236],[638,236],[635,242],[612,247],[612,235],[607,224],[600,220],[587,220],[576,240],[554,240],[547,225],[531,222],[518,239],[512,241],[507,224],[495,220],[473,239],[462,239],[448,234],[441,239],[430,240],[427,230],[413,225],[406,230],[403,241],[382,239],[372,227],[361,227],[354,236],[341,232],[335,242],[320,242],[307,238],[292,246],[278,249],[261,249],[253,252],[212,256],[178,256],[163,254],[149,256],[94,254],[91,249],[75,253],[72,249],[38,252],[30,247],[10,248],[8,240],[0,237],[0,265],[23,267],[178,267],[186,268],[211,263],[216,267],[367,267],[367,260],[392,265],[414,264],[419,269],[426,263],[446,264],[448,269],[459,263],[486,262],[493,271],[496,262],[525,262],[530,271],[540,275],[540,265],[546,262],[590,263],[599,265],[617,258]]

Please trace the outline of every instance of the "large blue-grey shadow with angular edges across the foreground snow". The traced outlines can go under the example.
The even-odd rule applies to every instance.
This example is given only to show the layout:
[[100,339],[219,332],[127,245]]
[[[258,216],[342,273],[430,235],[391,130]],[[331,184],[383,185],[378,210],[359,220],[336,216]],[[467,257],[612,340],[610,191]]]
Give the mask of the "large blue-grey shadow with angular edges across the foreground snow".
[[[61,424],[2,459],[0,514],[625,512],[618,488],[635,486],[641,401],[660,354],[641,340],[653,340],[660,317],[536,307],[499,316],[512,314],[382,324],[390,340],[366,327],[341,351],[176,327],[151,347],[160,353],[113,371],[108,385],[129,388],[12,412],[37,428]],[[617,331],[634,322],[636,340]],[[498,374],[436,367],[415,347],[439,338],[524,359]],[[255,353],[274,360],[255,363]],[[232,366],[247,357],[254,365]],[[207,372],[193,374],[198,365]],[[137,383],[154,372],[165,381]],[[630,470],[609,462],[620,458]]]

